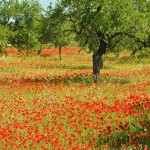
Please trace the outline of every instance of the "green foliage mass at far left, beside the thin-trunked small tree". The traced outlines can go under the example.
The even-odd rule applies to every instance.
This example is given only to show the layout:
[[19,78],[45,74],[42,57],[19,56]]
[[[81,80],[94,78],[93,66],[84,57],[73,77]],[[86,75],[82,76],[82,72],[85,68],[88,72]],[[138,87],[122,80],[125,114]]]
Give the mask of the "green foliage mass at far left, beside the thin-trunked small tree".
[[1,0],[0,8],[0,25],[9,30],[8,35],[3,35],[5,43],[11,43],[18,49],[31,50],[40,46],[42,7],[38,0]]

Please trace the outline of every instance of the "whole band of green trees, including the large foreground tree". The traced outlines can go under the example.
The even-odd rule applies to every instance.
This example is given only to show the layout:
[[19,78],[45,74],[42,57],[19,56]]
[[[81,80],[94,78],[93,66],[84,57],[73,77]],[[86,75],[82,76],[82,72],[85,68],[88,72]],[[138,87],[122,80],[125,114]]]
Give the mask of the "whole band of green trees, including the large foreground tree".
[[[0,0],[0,49],[34,50],[76,41],[93,52],[94,81],[103,55],[150,48],[150,0],[60,0],[43,10],[38,0]],[[60,58],[61,59],[61,58]]]

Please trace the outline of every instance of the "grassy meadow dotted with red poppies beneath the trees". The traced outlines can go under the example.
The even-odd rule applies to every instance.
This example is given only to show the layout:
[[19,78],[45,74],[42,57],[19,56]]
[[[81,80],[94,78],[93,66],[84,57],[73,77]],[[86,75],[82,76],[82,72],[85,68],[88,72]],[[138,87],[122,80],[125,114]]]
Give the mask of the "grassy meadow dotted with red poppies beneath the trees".
[[93,84],[92,54],[77,48],[0,57],[1,150],[148,150],[150,60],[104,56]]

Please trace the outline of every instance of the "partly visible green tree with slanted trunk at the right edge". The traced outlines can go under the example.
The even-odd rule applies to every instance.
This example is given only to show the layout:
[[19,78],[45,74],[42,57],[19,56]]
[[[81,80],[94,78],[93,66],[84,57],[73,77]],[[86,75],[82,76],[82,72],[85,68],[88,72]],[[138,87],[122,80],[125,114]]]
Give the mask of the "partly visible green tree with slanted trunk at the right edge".
[[135,6],[137,11],[133,18],[135,26],[127,34],[130,40],[135,43],[129,58],[132,58],[138,50],[150,49],[150,1],[139,0],[135,2]]

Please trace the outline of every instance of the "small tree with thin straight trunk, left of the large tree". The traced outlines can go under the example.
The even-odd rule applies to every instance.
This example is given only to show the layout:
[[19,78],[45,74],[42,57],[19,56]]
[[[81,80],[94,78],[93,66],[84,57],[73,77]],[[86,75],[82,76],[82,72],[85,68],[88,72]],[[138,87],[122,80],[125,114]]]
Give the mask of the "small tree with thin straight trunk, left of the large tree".
[[66,32],[69,24],[65,15],[62,7],[59,5],[56,5],[54,9],[50,5],[42,20],[40,39],[43,44],[52,43],[54,47],[59,48],[60,60],[62,59],[62,48],[70,43],[72,37],[72,34]]

